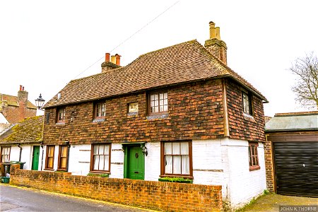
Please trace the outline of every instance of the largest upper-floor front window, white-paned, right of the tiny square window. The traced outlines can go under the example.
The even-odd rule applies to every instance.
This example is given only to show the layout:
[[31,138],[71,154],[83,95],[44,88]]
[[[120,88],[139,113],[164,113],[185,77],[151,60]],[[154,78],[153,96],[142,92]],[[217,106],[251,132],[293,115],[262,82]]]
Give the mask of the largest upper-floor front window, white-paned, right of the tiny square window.
[[167,92],[151,93],[149,95],[149,113],[165,113],[167,111]]

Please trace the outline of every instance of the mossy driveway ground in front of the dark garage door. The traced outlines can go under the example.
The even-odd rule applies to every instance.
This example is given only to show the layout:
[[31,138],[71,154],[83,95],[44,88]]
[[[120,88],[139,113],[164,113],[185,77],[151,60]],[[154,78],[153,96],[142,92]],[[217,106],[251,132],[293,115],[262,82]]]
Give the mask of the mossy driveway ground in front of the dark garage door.
[[[284,196],[279,194],[267,194],[259,197],[254,204],[244,208],[245,212],[279,211],[279,206],[315,206],[318,211],[318,198],[305,196]],[[281,211],[288,208],[281,208]],[[299,208],[302,211],[301,208]],[[290,210],[289,210],[290,211]],[[305,208],[304,208],[304,211]],[[308,211],[308,210],[307,210]]]

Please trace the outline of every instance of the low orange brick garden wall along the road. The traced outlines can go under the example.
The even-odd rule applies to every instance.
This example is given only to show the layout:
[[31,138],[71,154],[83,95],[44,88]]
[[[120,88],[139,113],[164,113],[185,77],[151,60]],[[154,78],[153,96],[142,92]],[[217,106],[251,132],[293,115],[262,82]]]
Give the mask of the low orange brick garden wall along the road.
[[76,176],[18,165],[11,165],[10,184],[164,211],[222,210],[221,186]]

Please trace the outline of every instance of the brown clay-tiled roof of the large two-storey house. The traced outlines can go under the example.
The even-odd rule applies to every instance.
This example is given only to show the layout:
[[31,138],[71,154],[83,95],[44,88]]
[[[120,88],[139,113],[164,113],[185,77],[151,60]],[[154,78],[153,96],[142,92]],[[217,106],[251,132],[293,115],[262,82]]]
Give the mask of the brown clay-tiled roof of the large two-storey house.
[[[229,76],[267,101],[258,90],[232,71],[196,40],[142,54],[127,66],[70,81],[45,107],[97,100],[114,95]],[[44,108],[45,108],[44,107]]]

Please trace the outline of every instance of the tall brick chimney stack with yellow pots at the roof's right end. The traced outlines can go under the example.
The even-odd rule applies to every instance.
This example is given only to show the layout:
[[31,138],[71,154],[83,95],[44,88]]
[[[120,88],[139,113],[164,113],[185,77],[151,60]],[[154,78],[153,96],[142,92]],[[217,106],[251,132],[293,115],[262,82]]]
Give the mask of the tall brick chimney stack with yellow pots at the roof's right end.
[[208,49],[208,52],[213,54],[214,57],[223,61],[223,63],[227,64],[227,53],[226,44],[223,40],[220,40],[220,28],[216,27],[216,24],[213,21],[208,23],[210,25],[210,39],[206,40],[204,47]]

